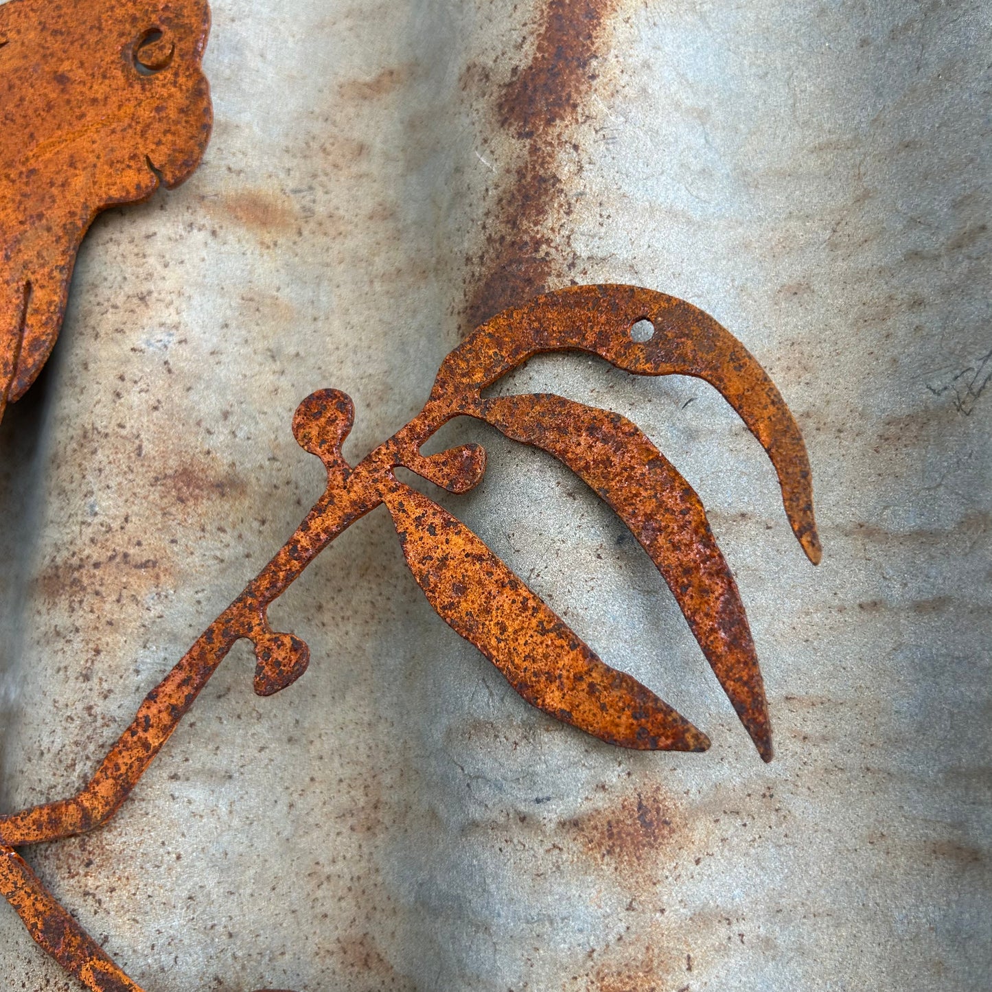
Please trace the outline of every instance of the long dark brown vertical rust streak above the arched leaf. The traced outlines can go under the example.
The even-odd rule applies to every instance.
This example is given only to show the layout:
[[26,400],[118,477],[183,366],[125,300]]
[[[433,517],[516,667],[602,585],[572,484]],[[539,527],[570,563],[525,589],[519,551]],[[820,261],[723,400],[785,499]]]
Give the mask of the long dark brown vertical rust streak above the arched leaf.
[[[617,6],[617,0],[546,0],[534,54],[514,67],[500,93],[496,121],[521,148],[510,181],[499,187],[486,212],[482,248],[466,259],[466,327],[568,278],[562,263],[568,201],[558,157],[571,145],[568,131],[580,121],[583,100],[596,81],[596,62]],[[556,211],[565,214],[558,230],[550,226]]]

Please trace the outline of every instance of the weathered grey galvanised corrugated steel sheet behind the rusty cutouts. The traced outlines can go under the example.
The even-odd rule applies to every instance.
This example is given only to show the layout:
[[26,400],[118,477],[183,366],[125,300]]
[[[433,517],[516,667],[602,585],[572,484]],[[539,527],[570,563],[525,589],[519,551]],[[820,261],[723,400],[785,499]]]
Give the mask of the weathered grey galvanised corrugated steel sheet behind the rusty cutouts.
[[[605,661],[713,738],[600,745],[434,615],[386,514],[240,645],[131,802],[31,864],[151,990],[989,987],[990,9],[965,2],[215,0],[217,124],[112,211],[54,365],[0,428],[2,780],[78,787],[319,492],[489,312],[570,281],[713,313],[805,433],[825,557],[707,386],[584,358],[710,508],[777,733],[765,766],[619,522],[479,426],[444,505]],[[983,392],[983,390],[985,390]],[[427,484],[425,484],[427,485]],[[0,912],[10,989],[74,988]]]

